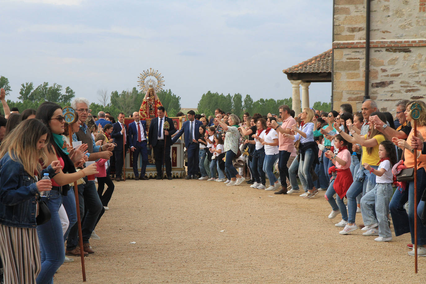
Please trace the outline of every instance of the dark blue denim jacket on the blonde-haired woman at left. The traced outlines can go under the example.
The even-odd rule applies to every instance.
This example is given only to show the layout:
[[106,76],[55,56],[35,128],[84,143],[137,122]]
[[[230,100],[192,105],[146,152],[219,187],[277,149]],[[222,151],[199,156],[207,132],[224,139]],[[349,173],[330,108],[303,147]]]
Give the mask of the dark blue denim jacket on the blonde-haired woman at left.
[[[49,165],[43,172],[55,175]],[[22,164],[8,154],[0,160],[0,223],[10,227],[35,228],[36,199],[40,195],[32,178]]]

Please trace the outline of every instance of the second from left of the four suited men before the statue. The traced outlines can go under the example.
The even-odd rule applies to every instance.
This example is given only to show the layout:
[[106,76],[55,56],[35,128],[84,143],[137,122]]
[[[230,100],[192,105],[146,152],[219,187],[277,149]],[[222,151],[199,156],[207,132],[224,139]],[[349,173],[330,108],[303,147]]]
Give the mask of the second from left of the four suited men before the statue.
[[[133,173],[135,174],[135,181],[147,180],[148,178],[145,178],[145,170],[148,164],[147,122],[141,120],[139,112],[133,112],[133,119],[135,122],[129,124],[129,147],[133,153]],[[142,155],[141,176],[138,174],[139,154]]]

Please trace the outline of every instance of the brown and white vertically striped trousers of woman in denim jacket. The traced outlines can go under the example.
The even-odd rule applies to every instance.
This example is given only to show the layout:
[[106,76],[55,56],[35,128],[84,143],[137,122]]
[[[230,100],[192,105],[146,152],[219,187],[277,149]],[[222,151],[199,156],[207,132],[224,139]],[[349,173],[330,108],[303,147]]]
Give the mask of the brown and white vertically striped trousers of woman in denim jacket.
[[41,269],[37,230],[0,224],[0,258],[4,283],[35,284]]

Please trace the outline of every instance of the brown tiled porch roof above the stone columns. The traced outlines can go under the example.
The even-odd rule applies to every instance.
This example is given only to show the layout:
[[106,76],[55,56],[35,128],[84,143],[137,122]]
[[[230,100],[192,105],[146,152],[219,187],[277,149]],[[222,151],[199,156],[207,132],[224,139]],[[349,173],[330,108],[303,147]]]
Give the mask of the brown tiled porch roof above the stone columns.
[[320,55],[305,60],[302,63],[282,70],[283,73],[322,73],[331,72],[331,53],[333,49],[328,49]]

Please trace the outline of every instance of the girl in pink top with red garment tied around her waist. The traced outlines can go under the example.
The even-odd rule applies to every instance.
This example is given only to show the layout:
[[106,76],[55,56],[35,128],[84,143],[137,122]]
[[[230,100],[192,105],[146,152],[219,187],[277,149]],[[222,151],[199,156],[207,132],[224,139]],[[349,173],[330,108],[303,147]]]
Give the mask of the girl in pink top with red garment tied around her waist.
[[[328,219],[334,219],[339,213],[342,214],[342,221],[335,224],[336,227],[345,227],[348,223],[348,212],[346,205],[343,203],[343,198],[353,181],[351,170],[349,169],[351,166],[351,152],[349,152],[348,146],[351,147],[348,145],[348,141],[343,139],[342,135],[338,134],[334,138],[334,148],[339,151],[337,155],[334,155],[331,150],[324,153],[334,164],[334,166],[328,169],[330,175],[336,173],[333,174],[333,178],[331,178],[330,185],[324,195],[332,209],[330,215],[328,215]],[[337,203],[334,200],[334,194],[336,194]]]

